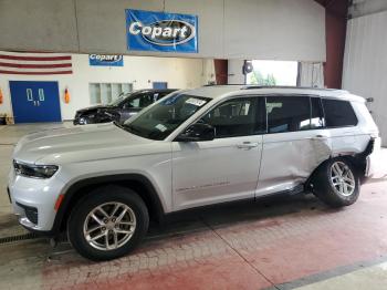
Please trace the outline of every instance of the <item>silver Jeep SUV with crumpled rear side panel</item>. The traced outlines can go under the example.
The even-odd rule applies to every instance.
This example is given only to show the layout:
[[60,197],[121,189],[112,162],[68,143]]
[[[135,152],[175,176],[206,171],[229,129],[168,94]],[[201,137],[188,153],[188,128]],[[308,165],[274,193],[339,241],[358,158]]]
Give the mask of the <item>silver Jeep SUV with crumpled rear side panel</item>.
[[23,137],[9,193],[25,228],[66,230],[82,256],[107,260],[129,252],[149,219],[187,208],[302,190],[348,206],[379,147],[365,100],[348,92],[206,86],[124,125]]

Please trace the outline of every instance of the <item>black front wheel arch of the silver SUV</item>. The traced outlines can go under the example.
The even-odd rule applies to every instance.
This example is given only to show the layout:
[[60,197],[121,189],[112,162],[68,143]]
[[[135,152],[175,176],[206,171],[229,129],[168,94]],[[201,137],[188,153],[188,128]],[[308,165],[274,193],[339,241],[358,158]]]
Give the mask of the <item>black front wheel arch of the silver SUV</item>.
[[76,203],[82,198],[90,195],[90,193],[97,188],[108,185],[118,185],[135,190],[144,200],[148,208],[149,219],[161,222],[164,217],[164,209],[161,203],[153,188],[149,180],[145,177],[136,178],[91,178],[81,180],[73,185],[65,194],[63,204],[60,207],[60,211],[56,214],[54,221],[54,231],[63,231],[66,227],[67,219],[71,215],[71,209],[74,208]]

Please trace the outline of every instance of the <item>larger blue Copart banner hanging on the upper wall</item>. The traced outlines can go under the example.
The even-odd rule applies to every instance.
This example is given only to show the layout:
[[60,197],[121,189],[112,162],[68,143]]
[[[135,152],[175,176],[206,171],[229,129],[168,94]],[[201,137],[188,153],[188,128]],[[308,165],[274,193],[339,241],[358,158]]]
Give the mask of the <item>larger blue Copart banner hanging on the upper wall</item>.
[[126,9],[127,49],[198,52],[198,17]]

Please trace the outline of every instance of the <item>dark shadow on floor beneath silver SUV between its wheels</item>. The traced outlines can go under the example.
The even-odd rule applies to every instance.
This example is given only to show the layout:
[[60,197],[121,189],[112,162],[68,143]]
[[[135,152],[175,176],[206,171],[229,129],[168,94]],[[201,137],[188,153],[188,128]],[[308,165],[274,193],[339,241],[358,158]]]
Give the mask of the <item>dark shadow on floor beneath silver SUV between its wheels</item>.
[[275,195],[258,200],[249,199],[171,214],[166,217],[164,224],[153,222],[150,225],[147,240],[229,227],[295,213],[307,215],[307,211],[323,214],[336,210],[341,209],[327,208],[311,194]]

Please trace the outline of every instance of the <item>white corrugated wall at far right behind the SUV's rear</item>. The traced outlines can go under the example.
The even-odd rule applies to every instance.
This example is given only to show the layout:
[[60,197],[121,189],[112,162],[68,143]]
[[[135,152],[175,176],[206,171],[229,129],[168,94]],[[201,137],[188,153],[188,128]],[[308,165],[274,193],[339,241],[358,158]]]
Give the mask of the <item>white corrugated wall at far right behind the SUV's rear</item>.
[[347,24],[343,89],[364,97],[387,146],[387,11],[352,19]]

